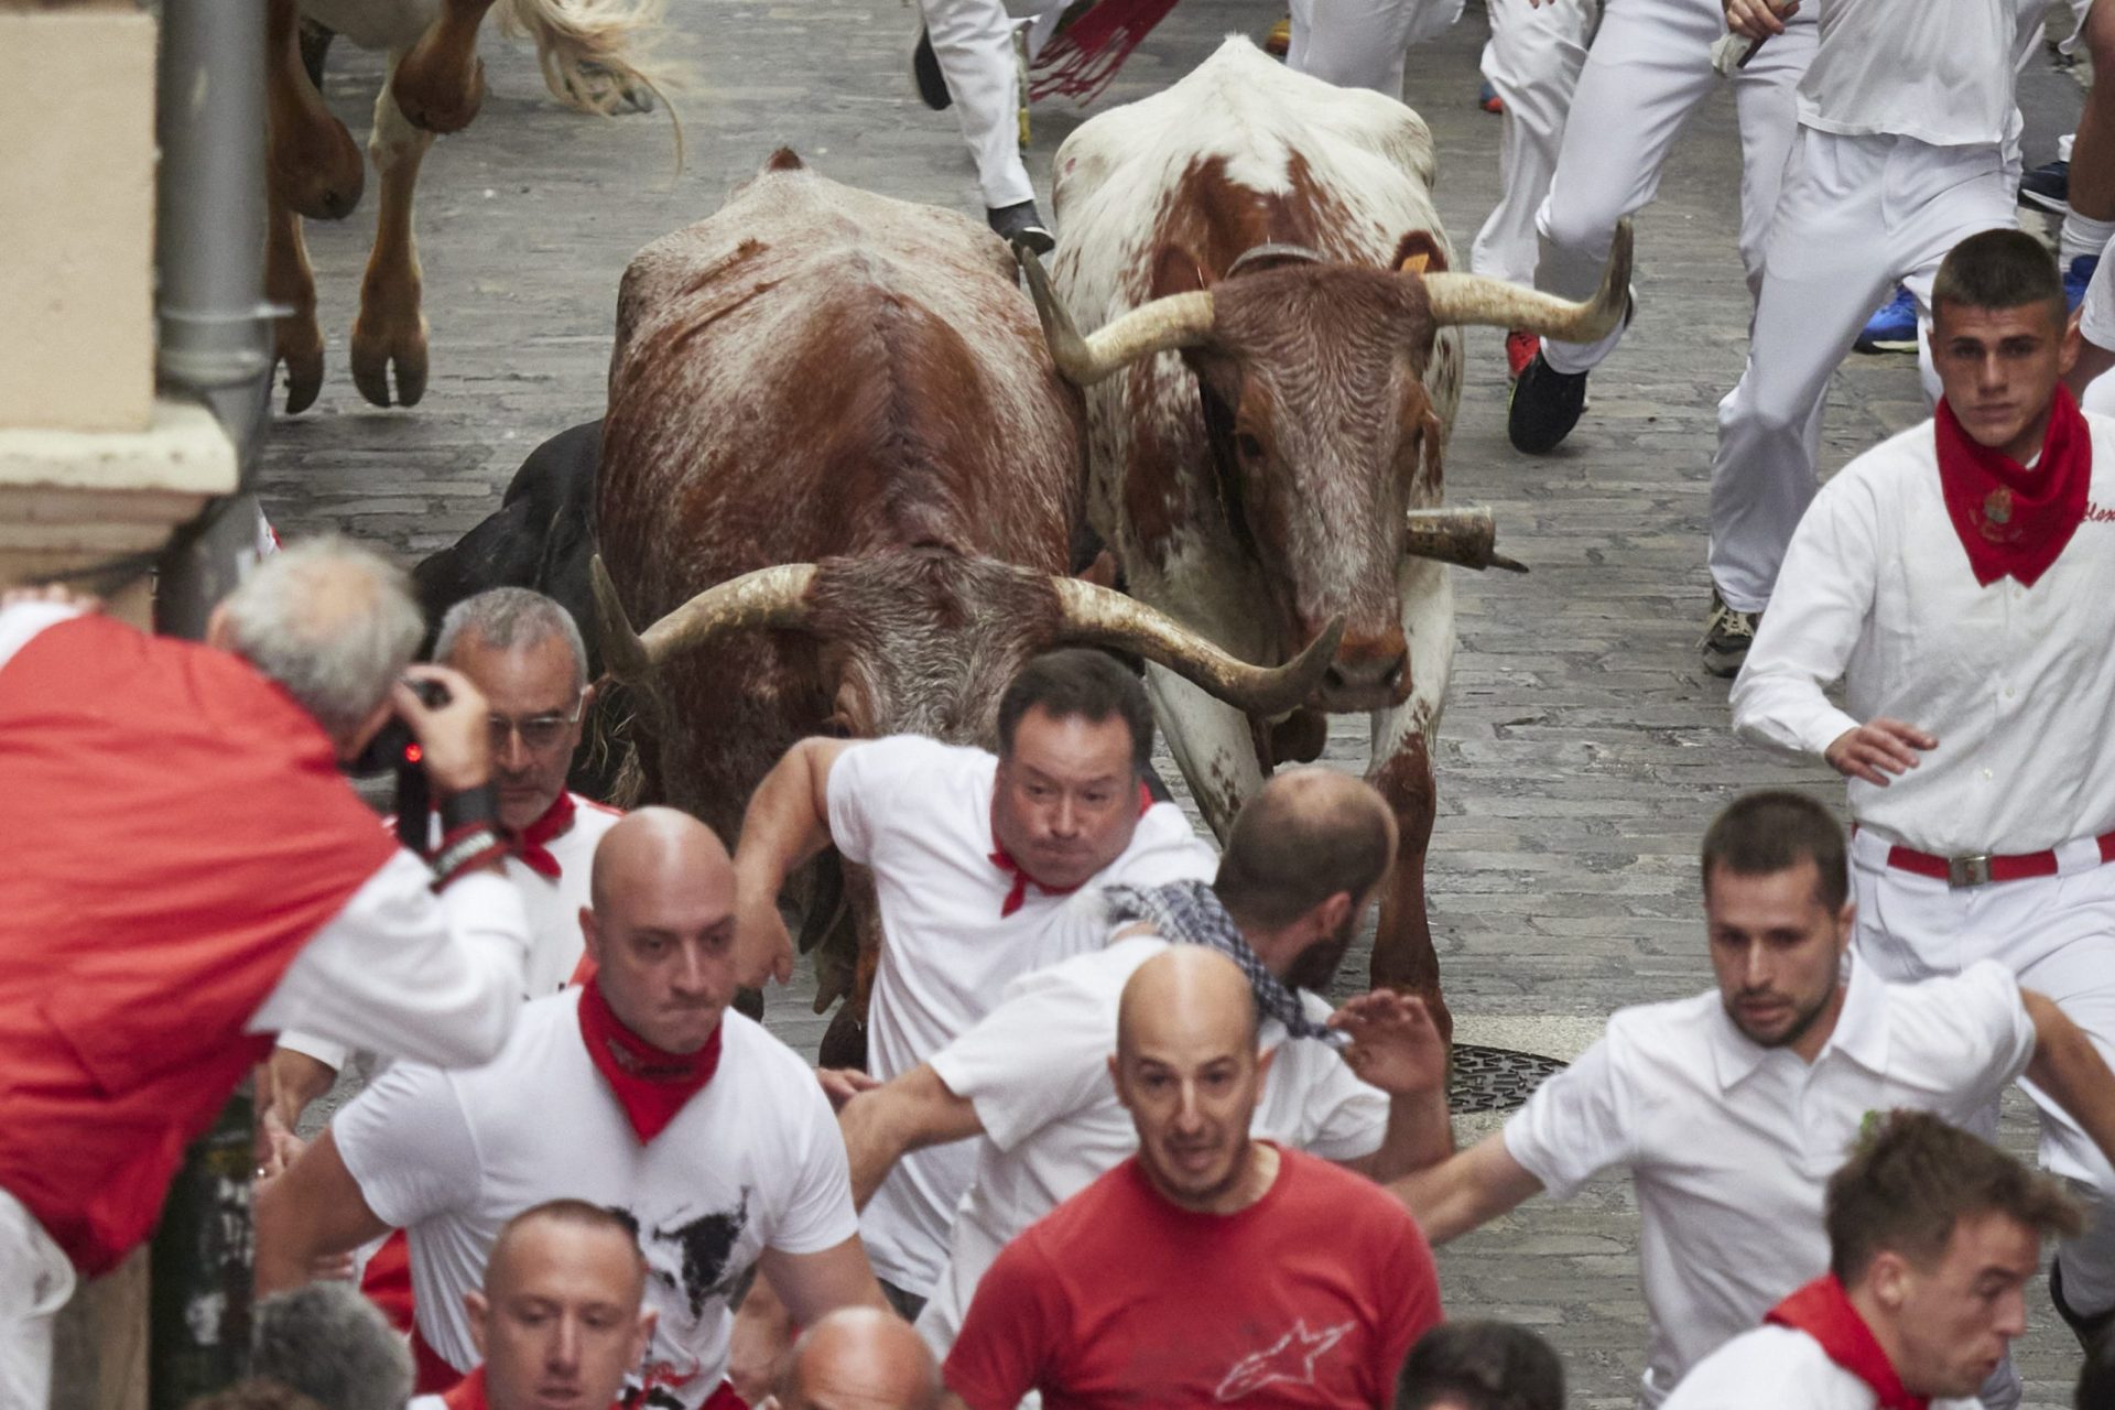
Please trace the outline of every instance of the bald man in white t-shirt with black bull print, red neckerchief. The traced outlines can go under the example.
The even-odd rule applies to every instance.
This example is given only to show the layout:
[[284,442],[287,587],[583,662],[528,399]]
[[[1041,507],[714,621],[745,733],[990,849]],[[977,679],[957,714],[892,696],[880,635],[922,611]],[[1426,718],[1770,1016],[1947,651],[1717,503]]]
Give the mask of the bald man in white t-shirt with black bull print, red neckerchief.
[[808,1065],[734,998],[734,869],[696,818],[643,808],[594,852],[594,977],[522,1008],[489,1068],[400,1065],[258,1196],[258,1290],[410,1235],[421,1391],[478,1361],[463,1294],[499,1226],[548,1199],[624,1211],[651,1268],[628,1397],[732,1406],[728,1294],[757,1264],[804,1323],[882,1306],[844,1144]]

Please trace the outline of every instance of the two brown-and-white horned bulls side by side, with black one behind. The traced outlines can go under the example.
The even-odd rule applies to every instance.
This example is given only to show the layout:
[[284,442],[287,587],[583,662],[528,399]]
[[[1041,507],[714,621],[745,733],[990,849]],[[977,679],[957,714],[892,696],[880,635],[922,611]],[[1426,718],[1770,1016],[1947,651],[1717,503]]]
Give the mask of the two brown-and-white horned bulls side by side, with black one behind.
[[[1373,979],[1447,1032],[1423,896],[1447,564],[1516,567],[1487,512],[1440,507],[1457,330],[1605,334],[1629,230],[1584,304],[1451,273],[1432,171],[1415,112],[1239,38],[1064,142],[1049,273],[780,150],[630,262],[605,419],[541,446],[421,592],[573,607],[624,687],[626,793],[723,837],[802,736],[990,744],[1003,683],[1058,643],[1144,660],[1218,831],[1328,715],[1371,715],[1402,839]],[[802,896],[819,1008],[854,998],[833,1042],[878,939],[859,884],[825,860]]]

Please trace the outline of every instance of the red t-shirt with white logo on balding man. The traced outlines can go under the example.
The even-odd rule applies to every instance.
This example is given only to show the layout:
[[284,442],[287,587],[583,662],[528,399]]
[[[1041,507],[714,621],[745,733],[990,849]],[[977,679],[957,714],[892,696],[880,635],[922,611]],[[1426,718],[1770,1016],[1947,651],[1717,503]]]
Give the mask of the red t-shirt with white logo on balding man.
[[[1140,1258],[1151,1249],[1151,1258]],[[1129,1158],[1007,1245],[977,1283],[945,1380],[971,1410],[1237,1402],[1394,1404],[1440,1321],[1432,1249],[1373,1182],[1282,1150],[1248,1209],[1191,1213]]]

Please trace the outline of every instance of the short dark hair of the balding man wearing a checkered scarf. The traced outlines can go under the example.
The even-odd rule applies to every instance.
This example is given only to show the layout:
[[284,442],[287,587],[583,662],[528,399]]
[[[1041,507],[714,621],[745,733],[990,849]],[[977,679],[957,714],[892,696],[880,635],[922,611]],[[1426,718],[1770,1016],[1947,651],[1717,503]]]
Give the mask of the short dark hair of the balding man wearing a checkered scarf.
[[1328,769],[1292,769],[1263,784],[1227,833],[1212,892],[1242,922],[1275,928],[1337,892],[1366,896],[1394,860],[1387,803]]

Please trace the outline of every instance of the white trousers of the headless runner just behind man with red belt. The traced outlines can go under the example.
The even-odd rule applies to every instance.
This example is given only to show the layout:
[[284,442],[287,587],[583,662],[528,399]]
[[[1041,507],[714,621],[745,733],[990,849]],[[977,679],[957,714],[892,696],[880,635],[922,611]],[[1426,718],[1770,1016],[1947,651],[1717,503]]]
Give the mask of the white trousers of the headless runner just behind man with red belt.
[[[1931,277],[1961,239],[2013,226],[1997,146],[1842,137],[1800,127],[1741,385],[1719,402],[1711,461],[1711,581],[1734,611],[1762,611],[1791,531],[1815,497],[1829,374],[1895,281],[1931,328]],[[1937,400],[1927,336],[1925,395]]]

